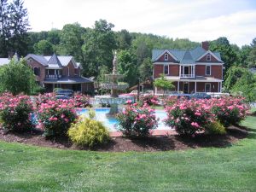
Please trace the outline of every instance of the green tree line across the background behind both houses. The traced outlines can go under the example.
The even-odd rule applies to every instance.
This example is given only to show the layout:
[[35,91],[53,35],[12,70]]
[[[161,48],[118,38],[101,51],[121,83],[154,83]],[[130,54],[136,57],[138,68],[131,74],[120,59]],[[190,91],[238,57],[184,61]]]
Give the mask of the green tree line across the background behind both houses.
[[[152,78],[152,49],[194,49],[201,45],[189,39],[128,32],[125,29],[114,32],[114,25],[107,20],[96,20],[92,27],[73,23],[63,26],[61,30],[28,32],[27,10],[21,0],[11,3],[0,0],[0,11],[0,57],[8,56],[9,51],[16,51],[20,56],[28,53],[73,55],[82,64],[83,75],[95,77],[97,81],[104,80],[103,74],[111,73],[113,50],[118,51],[119,73],[124,74],[124,81],[132,86],[137,84],[138,78]],[[209,49],[219,51],[224,61],[224,80],[231,80],[224,84],[227,90],[232,90],[236,84],[234,78],[229,77],[234,75],[234,70],[237,79],[241,79],[245,72],[241,68],[256,67],[256,38],[241,48],[230,44],[225,37],[209,43]]]

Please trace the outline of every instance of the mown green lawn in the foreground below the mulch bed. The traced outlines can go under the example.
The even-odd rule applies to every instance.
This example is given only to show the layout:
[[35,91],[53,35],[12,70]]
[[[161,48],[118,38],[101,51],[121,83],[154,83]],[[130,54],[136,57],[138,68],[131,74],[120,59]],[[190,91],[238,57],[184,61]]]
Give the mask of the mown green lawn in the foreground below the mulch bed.
[[256,117],[227,148],[101,153],[0,142],[0,191],[256,191]]

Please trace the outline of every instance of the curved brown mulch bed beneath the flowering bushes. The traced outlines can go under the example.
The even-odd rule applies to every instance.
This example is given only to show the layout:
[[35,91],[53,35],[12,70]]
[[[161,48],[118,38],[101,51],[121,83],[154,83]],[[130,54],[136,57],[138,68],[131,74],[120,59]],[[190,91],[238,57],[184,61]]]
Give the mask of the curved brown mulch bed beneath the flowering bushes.
[[71,143],[66,137],[58,139],[45,139],[42,131],[31,131],[27,133],[6,133],[0,130],[0,140],[8,143],[25,143],[40,147],[95,150],[105,152],[125,151],[168,151],[185,150],[189,148],[225,148],[238,140],[247,137],[247,129],[242,126],[230,126],[226,135],[204,135],[197,134],[195,137],[174,135],[151,136],[147,138],[112,137],[109,143],[102,144],[96,148],[79,148]]

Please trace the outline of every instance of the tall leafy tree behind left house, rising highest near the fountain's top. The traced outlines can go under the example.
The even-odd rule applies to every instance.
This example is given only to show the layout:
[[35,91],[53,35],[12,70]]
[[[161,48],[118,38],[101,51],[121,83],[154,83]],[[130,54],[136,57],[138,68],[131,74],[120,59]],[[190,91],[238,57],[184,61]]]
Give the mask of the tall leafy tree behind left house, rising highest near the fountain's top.
[[113,49],[117,48],[113,24],[107,20],[96,20],[93,29],[84,36],[84,75],[97,76],[99,67],[113,67]]

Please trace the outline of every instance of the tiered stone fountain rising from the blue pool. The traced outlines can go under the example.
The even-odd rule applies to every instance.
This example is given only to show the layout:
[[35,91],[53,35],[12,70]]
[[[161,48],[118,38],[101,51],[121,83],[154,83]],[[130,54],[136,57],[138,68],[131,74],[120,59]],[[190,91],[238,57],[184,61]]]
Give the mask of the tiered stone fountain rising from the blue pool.
[[123,79],[124,75],[117,72],[117,56],[116,52],[113,56],[113,73],[105,74],[106,83],[100,84],[102,89],[111,90],[110,96],[95,96],[96,103],[110,105],[110,111],[108,115],[115,115],[119,113],[119,105],[124,104],[128,100],[135,101],[133,96],[119,96],[118,90],[125,90],[129,87],[129,84],[119,83],[118,79]]

